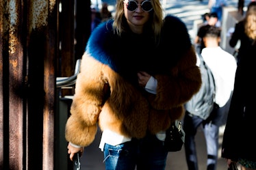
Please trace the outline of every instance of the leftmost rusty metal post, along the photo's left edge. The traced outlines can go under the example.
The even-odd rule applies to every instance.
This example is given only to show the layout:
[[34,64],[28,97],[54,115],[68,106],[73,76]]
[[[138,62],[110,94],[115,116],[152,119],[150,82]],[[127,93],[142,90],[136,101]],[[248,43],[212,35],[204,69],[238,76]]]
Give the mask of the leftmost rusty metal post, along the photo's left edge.
[[1,1],[1,165],[22,169],[24,160],[22,5]]

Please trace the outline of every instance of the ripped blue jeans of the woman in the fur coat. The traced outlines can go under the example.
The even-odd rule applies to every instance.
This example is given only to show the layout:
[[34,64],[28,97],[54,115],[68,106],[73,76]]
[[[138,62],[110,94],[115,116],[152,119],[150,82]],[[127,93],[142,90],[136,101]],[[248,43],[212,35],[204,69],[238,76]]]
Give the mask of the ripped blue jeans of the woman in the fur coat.
[[103,152],[106,170],[164,170],[168,154],[155,135],[116,146],[105,143]]

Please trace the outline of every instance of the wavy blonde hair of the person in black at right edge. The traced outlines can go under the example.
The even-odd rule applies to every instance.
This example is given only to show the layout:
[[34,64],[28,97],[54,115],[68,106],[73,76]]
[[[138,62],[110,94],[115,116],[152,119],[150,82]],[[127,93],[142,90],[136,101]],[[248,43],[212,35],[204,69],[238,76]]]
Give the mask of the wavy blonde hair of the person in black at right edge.
[[248,5],[244,18],[244,30],[249,38],[256,40],[256,1],[252,1]]

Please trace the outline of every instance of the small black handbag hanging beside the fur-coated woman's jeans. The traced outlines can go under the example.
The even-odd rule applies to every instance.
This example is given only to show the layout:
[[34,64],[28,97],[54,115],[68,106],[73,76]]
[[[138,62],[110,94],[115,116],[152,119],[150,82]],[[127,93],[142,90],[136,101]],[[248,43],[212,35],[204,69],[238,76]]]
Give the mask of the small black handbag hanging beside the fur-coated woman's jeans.
[[182,128],[181,121],[175,120],[166,130],[166,139],[164,146],[168,152],[180,151],[185,141],[185,132]]

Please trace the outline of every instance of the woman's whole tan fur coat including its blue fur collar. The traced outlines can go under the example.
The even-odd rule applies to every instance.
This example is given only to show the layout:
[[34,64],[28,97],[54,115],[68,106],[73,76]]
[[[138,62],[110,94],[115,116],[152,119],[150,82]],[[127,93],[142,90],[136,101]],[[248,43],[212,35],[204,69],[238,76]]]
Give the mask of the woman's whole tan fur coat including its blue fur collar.
[[[146,132],[166,130],[183,117],[183,104],[201,86],[188,31],[179,18],[168,16],[161,41],[155,42],[150,35],[126,32],[119,38],[111,21],[95,29],[77,77],[66,123],[67,141],[90,145],[97,124],[101,130],[142,138]],[[156,95],[138,85],[140,70],[157,79]]]

